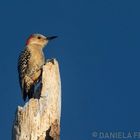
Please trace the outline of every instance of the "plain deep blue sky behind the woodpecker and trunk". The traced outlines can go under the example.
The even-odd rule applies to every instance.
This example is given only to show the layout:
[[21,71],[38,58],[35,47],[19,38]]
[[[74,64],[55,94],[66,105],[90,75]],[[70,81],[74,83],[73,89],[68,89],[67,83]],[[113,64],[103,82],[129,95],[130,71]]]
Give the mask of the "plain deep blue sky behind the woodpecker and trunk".
[[62,80],[62,140],[92,140],[93,131],[139,131],[140,1],[1,0],[0,130],[11,138],[24,105],[17,58],[32,33],[58,35],[45,49]]

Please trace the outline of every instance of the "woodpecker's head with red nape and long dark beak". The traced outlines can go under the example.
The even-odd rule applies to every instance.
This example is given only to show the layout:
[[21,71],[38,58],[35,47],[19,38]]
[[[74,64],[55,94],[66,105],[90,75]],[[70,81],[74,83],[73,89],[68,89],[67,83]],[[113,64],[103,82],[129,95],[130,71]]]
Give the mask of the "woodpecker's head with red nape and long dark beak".
[[57,36],[44,36],[42,34],[32,34],[26,42],[26,45],[38,45],[41,46],[42,48],[47,45],[47,43],[52,40],[57,38]]

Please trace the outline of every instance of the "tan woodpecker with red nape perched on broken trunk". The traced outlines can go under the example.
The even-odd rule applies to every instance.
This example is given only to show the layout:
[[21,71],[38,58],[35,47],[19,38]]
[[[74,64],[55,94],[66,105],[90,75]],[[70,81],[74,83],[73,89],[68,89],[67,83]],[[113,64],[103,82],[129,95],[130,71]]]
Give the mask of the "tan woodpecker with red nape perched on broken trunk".
[[27,97],[33,97],[34,85],[42,74],[42,66],[45,64],[43,48],[56,37],[46,37],[37,33],[27,39],[25,49],[18,59],[19,83],[24,101]]

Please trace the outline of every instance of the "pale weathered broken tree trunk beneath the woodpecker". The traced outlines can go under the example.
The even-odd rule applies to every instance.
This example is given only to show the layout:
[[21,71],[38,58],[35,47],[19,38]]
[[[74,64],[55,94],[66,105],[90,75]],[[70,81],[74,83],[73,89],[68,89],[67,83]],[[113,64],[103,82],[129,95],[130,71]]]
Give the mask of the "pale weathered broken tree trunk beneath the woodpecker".
[[18,106],[12,140],[59,140],[61,83],[59,66],[54,59],[43,67],[40,99]]

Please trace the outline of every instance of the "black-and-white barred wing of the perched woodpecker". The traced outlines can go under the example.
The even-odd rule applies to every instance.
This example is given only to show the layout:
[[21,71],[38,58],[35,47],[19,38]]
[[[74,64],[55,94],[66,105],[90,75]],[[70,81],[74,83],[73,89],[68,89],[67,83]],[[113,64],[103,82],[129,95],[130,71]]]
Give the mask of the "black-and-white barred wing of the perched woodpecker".
[[31,57],[30,51],[26,48],[24,51],[21,52],[18,59],[19,83],[20,83],[20,87],[22,91],[25,87],[24,77],[28,69],[28,65],[29,65],[28,63],[29,63],[30,57]]

